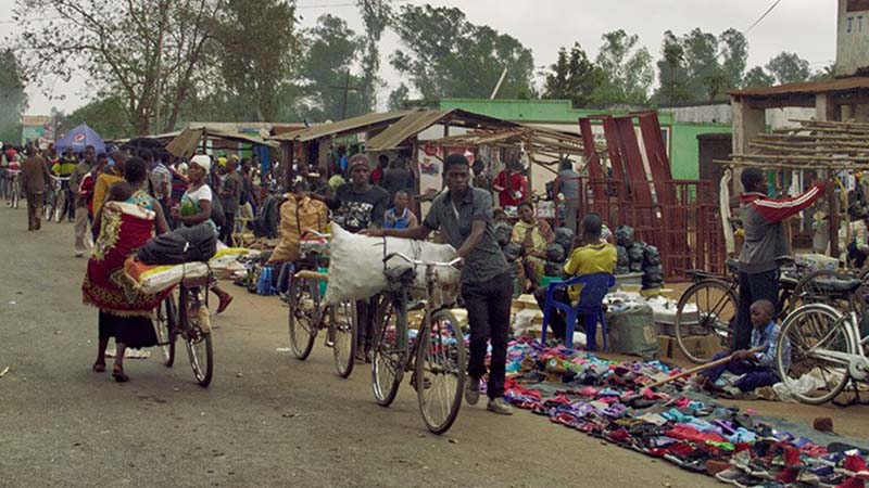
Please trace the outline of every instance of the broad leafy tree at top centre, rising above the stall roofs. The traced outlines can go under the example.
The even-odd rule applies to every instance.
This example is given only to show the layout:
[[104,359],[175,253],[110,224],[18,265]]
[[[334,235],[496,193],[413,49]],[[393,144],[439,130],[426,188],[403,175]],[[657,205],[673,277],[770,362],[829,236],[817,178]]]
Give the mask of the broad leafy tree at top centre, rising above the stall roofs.
[[402,49],[390,63],[424,99],[489,98],[504,70],[499,97],[533,93],[531,51],[458,9],[404,4],[393,28]]

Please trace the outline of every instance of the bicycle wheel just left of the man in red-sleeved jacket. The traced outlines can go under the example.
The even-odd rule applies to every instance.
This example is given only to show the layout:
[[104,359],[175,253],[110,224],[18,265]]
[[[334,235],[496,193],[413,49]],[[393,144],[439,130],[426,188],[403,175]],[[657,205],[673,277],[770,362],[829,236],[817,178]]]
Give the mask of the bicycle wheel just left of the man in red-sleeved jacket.
[[[730,348],[730,324],[736,317],[739,301],[731,285],[707,279],[694,283],[679,298],[676,309],[676,343],[688,359],[706,362],[711,356],[689,347],[689,337],[714,337],[715,349]],[[713,349],[713,348],[705,348]]]

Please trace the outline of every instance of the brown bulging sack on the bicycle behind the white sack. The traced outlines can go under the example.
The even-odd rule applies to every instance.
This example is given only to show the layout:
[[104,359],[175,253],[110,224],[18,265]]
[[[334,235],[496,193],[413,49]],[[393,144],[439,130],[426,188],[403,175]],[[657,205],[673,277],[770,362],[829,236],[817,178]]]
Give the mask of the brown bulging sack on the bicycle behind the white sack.
[[329,210],[326,204],[310,196],[286,195],[280,206],[280,241],[268,262],[295,261],[301,257],[299,241],[306,231],[326,232]]

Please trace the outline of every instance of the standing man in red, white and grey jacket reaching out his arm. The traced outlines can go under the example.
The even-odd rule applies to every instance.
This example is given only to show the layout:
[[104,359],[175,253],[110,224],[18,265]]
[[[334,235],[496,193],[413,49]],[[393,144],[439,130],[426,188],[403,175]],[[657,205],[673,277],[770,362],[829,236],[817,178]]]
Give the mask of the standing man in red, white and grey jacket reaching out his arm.
[[748,349],[752,339],[752,304],[766,299],[779,307],[778,259],[790,257],[782,220],[814,204],[824,189],[823,182],[816,182],[808,191],[793,198],[768,198],[766,176],[759,168],[744,169],[740,179],[745,190],[740,196],[745,243],[739,259],[740,303],[734,350]]

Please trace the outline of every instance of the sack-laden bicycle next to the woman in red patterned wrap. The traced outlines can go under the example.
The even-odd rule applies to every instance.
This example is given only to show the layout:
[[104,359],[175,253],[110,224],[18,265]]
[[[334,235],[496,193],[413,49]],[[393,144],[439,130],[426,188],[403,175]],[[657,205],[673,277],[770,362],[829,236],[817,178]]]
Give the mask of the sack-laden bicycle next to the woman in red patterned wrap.
[[[211,338],[209,287],[211,273],[203,278],[185,278],[155,310],[158,346],[163,363],[175,363],[175,342],[184,339],[190,368],[200,386],[207,387],[214,376],[214,346]],[[177,301],[177,305],[176,305]]]

